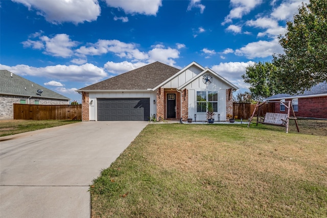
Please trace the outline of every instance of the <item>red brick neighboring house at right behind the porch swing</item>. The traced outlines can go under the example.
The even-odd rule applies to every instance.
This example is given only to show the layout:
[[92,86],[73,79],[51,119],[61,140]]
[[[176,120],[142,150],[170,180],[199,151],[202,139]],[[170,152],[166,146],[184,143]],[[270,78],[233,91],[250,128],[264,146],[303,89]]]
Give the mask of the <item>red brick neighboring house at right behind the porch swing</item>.
[[[275,112],[285,112],[285,106],[279,102],[292,102],[296,117],[327,118],[327,83],[319,83],[301,94],[275,94],[265,101],[275,103]],[[292,115],[292,114],[291,114]]]

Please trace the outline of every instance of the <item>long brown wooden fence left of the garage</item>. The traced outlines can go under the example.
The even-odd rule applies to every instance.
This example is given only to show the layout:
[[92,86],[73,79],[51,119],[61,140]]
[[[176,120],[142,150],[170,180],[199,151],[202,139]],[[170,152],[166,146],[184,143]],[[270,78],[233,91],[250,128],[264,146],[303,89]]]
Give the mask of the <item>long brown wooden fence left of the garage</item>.
[[82,105],[14,104],[14,119],[82,119]]

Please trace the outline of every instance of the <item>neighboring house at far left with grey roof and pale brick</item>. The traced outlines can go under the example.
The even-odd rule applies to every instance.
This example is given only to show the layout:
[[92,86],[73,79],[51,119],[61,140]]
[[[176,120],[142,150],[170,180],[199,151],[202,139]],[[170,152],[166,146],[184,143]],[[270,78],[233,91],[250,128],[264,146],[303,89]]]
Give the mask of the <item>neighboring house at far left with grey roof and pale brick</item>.
[[14,103],[67,105],[69,99],[8,70],[0,70],[0,119],[14,118]]

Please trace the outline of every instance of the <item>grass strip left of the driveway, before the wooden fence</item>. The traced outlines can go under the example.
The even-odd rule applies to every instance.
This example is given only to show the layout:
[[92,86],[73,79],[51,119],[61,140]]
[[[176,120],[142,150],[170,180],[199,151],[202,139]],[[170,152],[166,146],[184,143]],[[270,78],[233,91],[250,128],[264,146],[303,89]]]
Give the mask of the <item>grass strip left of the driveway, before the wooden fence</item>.
[[81,120],[0,120],[0,137],[80,122]]

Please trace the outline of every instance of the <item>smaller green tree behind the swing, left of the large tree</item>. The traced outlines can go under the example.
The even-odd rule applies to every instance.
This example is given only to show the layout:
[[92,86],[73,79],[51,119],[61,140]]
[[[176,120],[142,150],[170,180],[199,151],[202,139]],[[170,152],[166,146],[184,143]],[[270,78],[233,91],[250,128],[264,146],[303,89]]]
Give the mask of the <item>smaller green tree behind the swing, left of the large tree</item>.
[[244,82],[250,84],[249,89],[253,100],[262,101],[279,92],[276,87],[276,73],[277,67],[269,62],[259,61],[259,63],[246,67],[242,78]]

